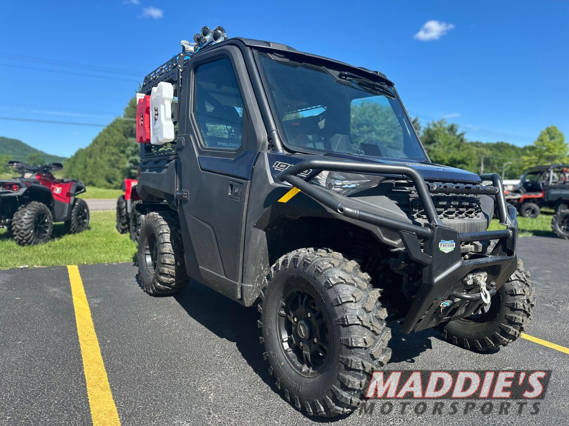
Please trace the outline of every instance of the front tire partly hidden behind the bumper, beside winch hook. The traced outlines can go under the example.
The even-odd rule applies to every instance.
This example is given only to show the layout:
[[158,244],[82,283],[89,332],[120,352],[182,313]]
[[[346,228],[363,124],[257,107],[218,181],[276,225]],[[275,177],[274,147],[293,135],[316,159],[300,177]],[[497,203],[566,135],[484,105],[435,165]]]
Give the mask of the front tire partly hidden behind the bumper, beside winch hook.
[[488,311],[440,325],[443,338],[472,350],[493,350],[516,340],[531,321],[535,288],[530,273],[518,260],[518,269],[492,296]]

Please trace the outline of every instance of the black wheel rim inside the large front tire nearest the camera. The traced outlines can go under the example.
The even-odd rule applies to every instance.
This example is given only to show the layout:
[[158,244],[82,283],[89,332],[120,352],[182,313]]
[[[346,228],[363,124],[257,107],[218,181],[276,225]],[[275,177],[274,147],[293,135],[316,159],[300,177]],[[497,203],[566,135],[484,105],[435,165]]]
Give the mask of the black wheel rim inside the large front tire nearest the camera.
[[290,364],[302,375],[314,377],[328,360],[328,320],[316,299],[292,289],[281,299],[277,318],[279,339]]

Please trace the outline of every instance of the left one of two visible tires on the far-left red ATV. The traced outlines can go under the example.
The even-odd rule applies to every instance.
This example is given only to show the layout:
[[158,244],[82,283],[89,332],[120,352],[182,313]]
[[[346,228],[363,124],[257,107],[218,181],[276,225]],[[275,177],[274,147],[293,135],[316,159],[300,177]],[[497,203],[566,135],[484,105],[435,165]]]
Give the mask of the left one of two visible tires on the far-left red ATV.
[[46,243],[53,229],[51,211],[38,201],[22,204],[14,213],[11,227],[12,236],[19,245]]

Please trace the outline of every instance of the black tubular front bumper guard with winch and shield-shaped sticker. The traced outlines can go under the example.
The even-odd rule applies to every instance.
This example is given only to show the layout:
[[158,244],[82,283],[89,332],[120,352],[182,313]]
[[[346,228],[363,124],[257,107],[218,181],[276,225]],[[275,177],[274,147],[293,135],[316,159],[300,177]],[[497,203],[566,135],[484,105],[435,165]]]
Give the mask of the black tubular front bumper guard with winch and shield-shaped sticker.
[[[357,199],[332,194],[331,191],[312,185],[296,176],[305,170],[409,177],[414,183],[429,223],[422,227],[361,210],[365,208],[365,205],[358,203]],[[291,166],[277,174],[276,177],[297,187],[308,197],[340,215],[393,229],[399,233],[411,260],[423,266],[423,281],[402,324],[402,333],[434,327],[443,321],[464,318],[476,311],[482,303],[481,299],[476,296],[479,294],[477,293],[479,287],[464,283],[464,278],[468,274],[485,272],[488,275],[486,283],[492,287],[490,292],[494,294],[517,269],[517,211],[516,208],[506,203],[504,187],[497,174],[480,176],[482,179],[492,181],[492,185],[489,186],[452,185],[448,187],[427,184],[417,170],[409,166],[315,159]],[[436,213],[430,193],[489,195],[495,199],[498,218],[506,229],[457,232],[447,228]],[[460,244],[469,241],[493,241],[496,244],[489,245],[492,247],[489,253],[473,254],[471,258],[465,260],[460,252]],[[448,245],[450,244],[452,244],[452,250],[449,250]]]

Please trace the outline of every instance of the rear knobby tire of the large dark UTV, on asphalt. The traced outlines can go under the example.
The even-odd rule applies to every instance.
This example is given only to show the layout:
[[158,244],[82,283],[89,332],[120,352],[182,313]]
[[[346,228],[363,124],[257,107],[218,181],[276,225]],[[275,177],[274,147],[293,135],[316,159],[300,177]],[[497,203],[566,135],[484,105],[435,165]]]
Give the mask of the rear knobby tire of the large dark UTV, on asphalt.
[[152,295],[177,293],[188,285],[175,212],[145,215],[138,239],[138,273],[144,290]]

